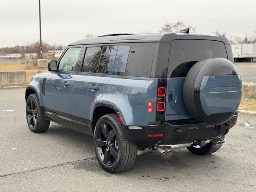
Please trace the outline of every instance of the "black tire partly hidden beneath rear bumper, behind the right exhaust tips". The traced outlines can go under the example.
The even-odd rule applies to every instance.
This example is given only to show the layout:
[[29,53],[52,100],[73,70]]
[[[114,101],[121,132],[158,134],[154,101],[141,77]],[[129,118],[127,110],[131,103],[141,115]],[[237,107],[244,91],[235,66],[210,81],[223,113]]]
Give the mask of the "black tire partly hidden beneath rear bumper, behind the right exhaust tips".
[[[222,136],[221,138],[224,140],[225,136]],[[187,149],[196,155],[208,155],[218,151],[221,146],[222,144],[215,145],[213,142],[210,142],[201,148],[187,147]]]

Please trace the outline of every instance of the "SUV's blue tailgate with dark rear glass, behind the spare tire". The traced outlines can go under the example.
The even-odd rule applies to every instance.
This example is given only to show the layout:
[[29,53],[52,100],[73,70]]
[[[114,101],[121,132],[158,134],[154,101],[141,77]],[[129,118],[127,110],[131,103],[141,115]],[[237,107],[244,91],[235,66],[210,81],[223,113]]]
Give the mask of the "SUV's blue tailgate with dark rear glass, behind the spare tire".
[[207,58],[226,58],[225,44],[213,40],[173,40],[171,42],[167,86],[165,120],[193,118],[183,100],[183,84],[190,68]]

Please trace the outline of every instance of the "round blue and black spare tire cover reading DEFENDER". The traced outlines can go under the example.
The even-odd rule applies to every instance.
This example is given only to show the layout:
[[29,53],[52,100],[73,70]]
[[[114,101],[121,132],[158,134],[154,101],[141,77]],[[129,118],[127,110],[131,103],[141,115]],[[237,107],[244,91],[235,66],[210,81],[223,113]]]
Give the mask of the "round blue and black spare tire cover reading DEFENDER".
[[190,114],[204,122],[219,125],[238,110],[242,82],[236,66],[225,58],[204,59],[188,71],[183,97]]

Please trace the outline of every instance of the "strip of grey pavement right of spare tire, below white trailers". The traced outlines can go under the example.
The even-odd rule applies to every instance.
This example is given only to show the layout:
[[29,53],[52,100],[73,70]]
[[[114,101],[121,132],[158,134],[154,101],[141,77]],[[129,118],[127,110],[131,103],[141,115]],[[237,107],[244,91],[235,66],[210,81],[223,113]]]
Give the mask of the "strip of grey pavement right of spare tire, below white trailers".
[[242,81],[256,83],[256,62],[236,62]]

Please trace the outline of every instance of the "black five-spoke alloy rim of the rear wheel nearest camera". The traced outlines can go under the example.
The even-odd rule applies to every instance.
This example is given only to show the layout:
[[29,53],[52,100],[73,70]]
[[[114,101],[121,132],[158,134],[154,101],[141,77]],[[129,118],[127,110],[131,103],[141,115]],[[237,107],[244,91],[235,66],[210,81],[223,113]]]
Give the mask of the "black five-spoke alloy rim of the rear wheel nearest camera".
[[116,131],[108,122],[103,122],[94,139],[98,156],[106,166],[112,166],[118,156]]

